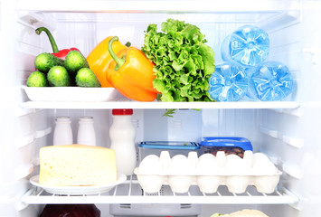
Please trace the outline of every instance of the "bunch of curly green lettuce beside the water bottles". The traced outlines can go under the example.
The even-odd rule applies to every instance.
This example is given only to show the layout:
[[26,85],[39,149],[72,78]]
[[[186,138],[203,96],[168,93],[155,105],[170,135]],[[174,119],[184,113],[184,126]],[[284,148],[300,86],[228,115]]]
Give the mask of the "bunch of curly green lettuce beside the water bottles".
[[215,71],[214,52],[200,29],[168,19],[157,33],[149,24],[142,52],[156,65],[153,86],[162,101],[212,101],[208,80]]

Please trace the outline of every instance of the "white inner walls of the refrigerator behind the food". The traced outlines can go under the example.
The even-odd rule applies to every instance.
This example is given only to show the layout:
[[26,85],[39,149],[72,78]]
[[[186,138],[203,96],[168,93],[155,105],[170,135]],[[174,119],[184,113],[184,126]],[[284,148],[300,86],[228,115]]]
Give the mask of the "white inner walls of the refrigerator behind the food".
[[[266,3],[268,1],[264,1]],[[278,8],[276,1],[273,2]],[[218,3],[216,3],[218,4]],[[258,208],[269,216],[310,216],[321,212],[321,28],[318,1],[282,1],[280,9],[266,13],[36,13],[16,12],[16,2],[0,1],[0,216],[37,216],[42,205],[20,203],[28,190],[28,178],[39,171],[39,148],[52,145],[54,118],[71,116],[74,142],[78,118],[92,116],[97,143],[109,147],[109,109],[21,109],[27,99],[21,85],[34,70],[33,60],[40,52],[52,52],[47,36],[34,29],[47,26],[60,49],[78,47],[86,56],[109,35],[119,35],[121,42],[138,48],[144,42],[148,24],[161,24],[168,17],[201,27],[222,62],[220,43],[242,24],[257,24],[269,33],[270,61],[288,65],[297,81],[291,100],[299,109],[203,109],[178,110],[174,118],[162,117],[165,109],[135,109],[133,123],[137,142],[143,140],[191,140],[207,136],[248,137],[255,152],[271,157],[282,170],[280,186],[300,198],[290,205],[203,205],[202,217],[213,212],[232,212]],[[286,11],[286,7],[299,10]],[[271,6],[267,5],[268,8]],[[67,8],[71,8],[68,7]],[[243,7],[241,7],[243,8]],[[244,9],[244,8],[243,8]],[[148,19],[146,17],[148,16]],[[16,22],[17,21],[17,22]],[[99,204],[102,216],[109,216],[109,205]]]

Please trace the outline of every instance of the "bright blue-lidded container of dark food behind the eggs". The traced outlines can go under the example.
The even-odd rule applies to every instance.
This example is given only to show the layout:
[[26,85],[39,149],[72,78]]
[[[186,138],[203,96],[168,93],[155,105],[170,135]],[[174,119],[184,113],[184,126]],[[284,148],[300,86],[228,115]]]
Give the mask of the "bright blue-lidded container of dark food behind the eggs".
[[203,137],[200,143],[200,155],[211,153],[216,156],[218,151],[225,155],[237,155],[243,158],[245,151],[253,151],[250,140],[245,137]]

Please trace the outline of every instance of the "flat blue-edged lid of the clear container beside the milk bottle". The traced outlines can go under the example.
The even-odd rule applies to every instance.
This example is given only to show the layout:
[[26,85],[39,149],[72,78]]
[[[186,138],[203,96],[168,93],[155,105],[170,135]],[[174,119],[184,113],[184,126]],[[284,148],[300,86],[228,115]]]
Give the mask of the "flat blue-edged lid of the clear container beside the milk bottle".
[[197,150],[200,149],[198,143],[181,142],[181,141],[146,141],[141,142],[138,147],[152,149],[169,149],[169,150]]

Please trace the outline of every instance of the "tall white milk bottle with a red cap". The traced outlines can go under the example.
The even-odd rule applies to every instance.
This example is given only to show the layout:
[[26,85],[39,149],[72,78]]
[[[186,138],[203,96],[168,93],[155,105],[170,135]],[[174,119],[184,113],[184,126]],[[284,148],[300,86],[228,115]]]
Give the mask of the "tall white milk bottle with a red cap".
[[136,130],[131,122],[133,109],[113,109],[113,123],[109,129],[110,148],[116,152],[117,171],[133,175],[137,164]]

